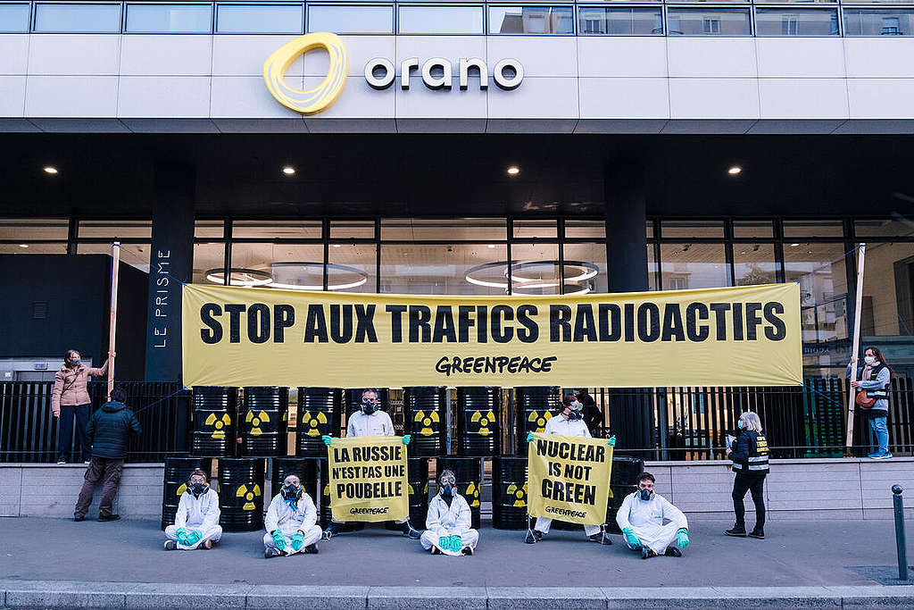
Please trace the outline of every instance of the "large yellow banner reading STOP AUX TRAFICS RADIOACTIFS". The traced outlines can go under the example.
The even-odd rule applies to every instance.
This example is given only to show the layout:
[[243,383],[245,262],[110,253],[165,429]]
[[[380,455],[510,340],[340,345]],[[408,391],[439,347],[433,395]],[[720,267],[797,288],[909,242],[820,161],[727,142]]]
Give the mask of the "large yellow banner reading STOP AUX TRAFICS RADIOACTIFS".
[[183,290],[187,386],[802,383],[797,284],[512,297]]

